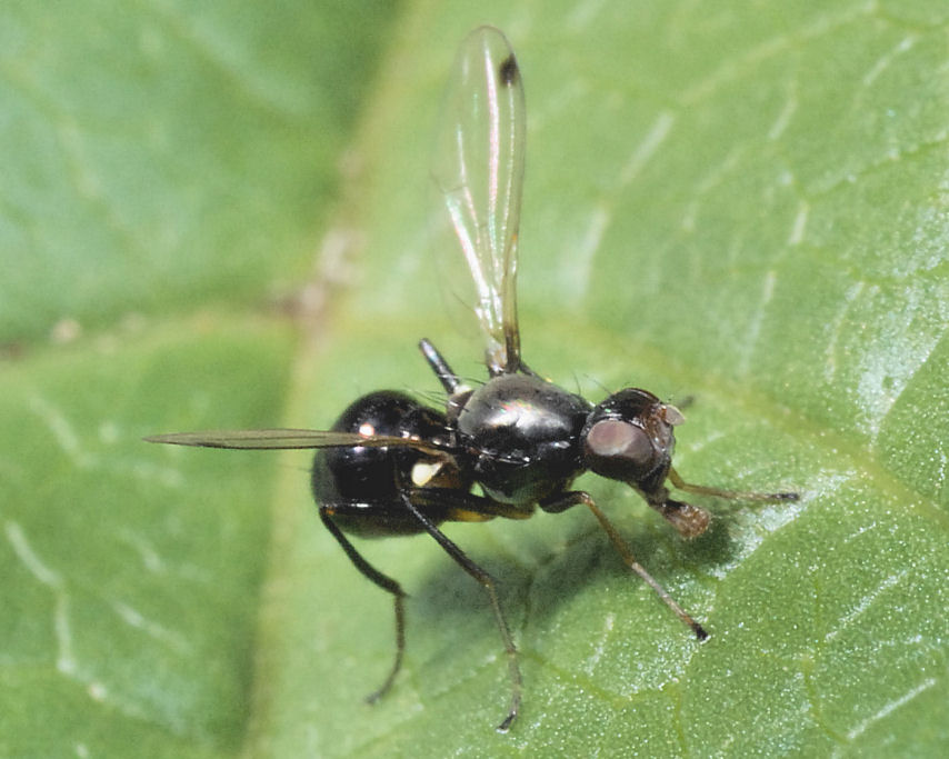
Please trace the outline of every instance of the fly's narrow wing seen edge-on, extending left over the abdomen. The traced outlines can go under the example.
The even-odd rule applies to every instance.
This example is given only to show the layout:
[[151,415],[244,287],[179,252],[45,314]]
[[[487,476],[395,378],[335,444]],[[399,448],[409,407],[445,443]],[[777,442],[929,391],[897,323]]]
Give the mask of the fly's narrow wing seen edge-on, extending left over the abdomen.
[[430,453],[444,450],[431,441],[414,438],[394,438],[382,435],[362,436],[358,432],[333,432],[330,430],[209,430],[206,432],[172,432],[144,438],[146,442],[163,442],[171,446],[196,446],[199,448],[231,448],[238,450],[288,450],[306,448],[352,448],[356,446],[402,447]]

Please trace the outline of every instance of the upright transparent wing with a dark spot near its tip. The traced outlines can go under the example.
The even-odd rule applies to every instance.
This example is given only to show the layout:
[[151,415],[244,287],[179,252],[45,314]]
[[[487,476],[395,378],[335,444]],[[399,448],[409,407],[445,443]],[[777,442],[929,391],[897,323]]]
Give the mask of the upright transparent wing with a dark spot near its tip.
[[462,299],[481,322],[491,374],[515,372],[526,116],[517,59],[499,30],[481,27],[461,43],[443,118],[433,174],[474,286]]

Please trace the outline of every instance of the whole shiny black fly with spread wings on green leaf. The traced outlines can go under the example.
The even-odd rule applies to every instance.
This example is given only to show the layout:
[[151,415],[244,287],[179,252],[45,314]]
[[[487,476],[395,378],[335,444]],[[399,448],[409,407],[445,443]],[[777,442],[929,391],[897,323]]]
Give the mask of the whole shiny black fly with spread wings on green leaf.
[[[391,687],[406,648],[404,592],[369,563],[349,536],[426,533],[487,591],[507,651],[507,731],[521,703],[513,638],[495,579],[444,532],[443,522],[527,519],[539,507],[588,508],[622,560],[695,632],[708,637],[636,560],[592,497],[572,490],[583,471],[626,482],[686,538],[701,535],[709,512],[676,500],[678,490],[721,498],[789,501],[793,492],[747,493],[690,485],[672,467],[672,406],[639,388],[592,403],[543,379],[521,358],[516,271],[525,163],[525,94],[505,36],[481,27],[461,46],[441,132],[436,180],[473,284],[486,339],[488,379],[463,382],[427,339],[419,348],[440,381],[444,410],[391,390],[354,401],[330,430],[243,430],[159,435],[150,442],[231,449],[316,449],[312,491],[326,528],[356,568],[392,596],[396,657],[374,701]],[[476,490],[477,486],[477,490]]]

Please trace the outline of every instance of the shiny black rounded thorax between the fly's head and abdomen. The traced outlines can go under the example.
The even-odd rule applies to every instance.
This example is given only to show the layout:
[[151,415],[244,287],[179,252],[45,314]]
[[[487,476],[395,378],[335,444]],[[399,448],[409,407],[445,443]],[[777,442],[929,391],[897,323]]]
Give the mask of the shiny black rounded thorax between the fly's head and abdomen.
[[458,413],[459,448],[474,480],[505,503],[535,503],[582,471],[580,431],[590,403],[539,377],[499,374],[477,388]]

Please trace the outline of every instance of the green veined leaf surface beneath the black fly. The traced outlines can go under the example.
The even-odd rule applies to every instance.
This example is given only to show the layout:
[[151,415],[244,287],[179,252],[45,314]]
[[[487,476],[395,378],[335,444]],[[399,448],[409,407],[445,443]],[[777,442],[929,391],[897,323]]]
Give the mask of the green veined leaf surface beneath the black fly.
[[[2,13],[0,753],[940,755],[945,3]],[[589,513],[447,526],[520,648],[507,736],[490,606],[432,541],[359,543],[410,593],[369,707],[391,601],[321,530],[308,456],[138,442],[434,392],[422,336],[482,376],[428,156],[486,19],[527,87],[527,360],[691,397],[686,479],[803,496],[697,497],[685,542],[579,481],[701,645]]]

